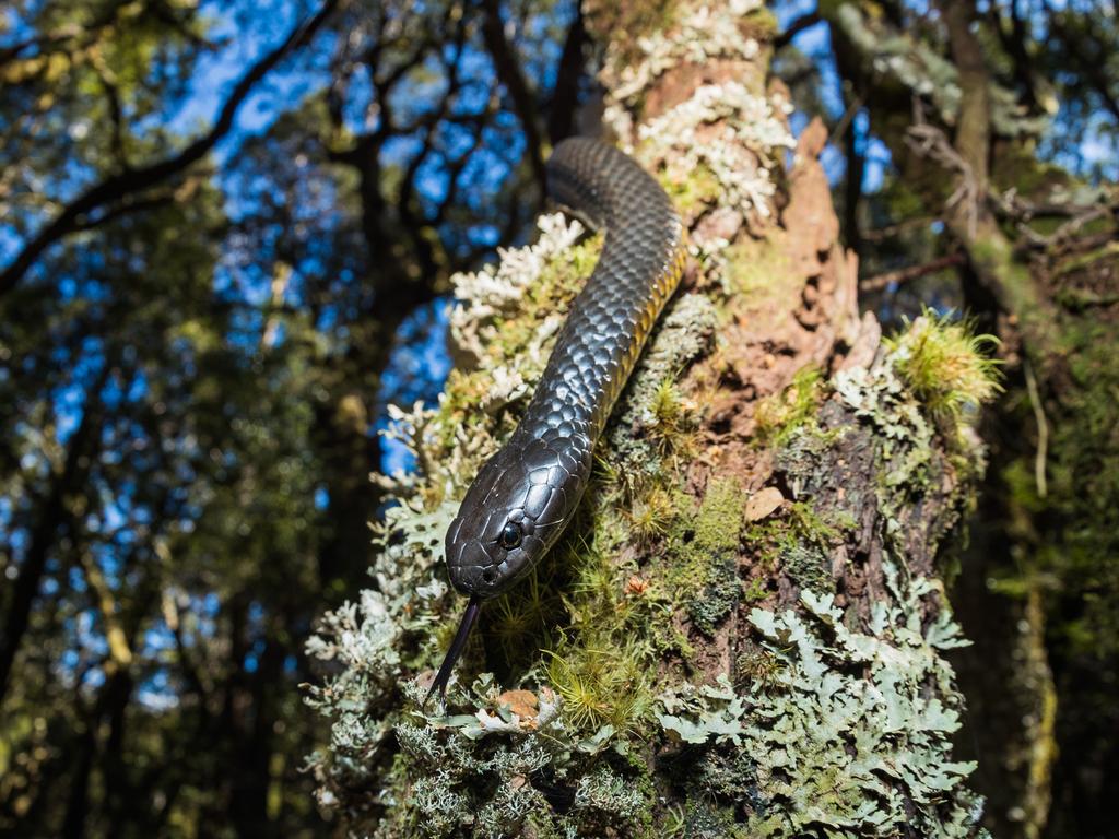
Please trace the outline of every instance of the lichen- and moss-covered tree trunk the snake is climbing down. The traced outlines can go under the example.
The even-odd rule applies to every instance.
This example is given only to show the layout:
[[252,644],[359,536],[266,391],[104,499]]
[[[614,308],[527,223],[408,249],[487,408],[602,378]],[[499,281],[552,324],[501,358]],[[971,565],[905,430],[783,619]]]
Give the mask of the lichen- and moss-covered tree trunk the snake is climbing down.
[[460,367],[438,408],[397,414],[420,471],[380,479],[401,506],[376,586],[310,644],[336,668],[311,696],[333,722],[320,800],[385,837],[975,835],[938,581],[989,367],[959,326],[883,342],[858,315],[825,131],[790,136],[758,2],[586,11],[606,123],[689,228],[684,286],[579,520],[487,606],[435,716],[419,699],[458,611],[443,531],[598,239],[545,217],[457,279]]

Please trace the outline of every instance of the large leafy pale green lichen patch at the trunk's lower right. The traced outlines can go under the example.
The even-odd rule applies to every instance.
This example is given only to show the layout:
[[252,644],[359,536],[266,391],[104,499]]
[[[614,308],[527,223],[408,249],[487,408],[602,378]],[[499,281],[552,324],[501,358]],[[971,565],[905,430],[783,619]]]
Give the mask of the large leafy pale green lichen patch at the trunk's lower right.
[[965,641],[947,611],[922,625],[937,585],[888,562],[885,571],[891,597],[874,604],[865,631],[848,629],[830,595],[806,591],[806,614],[750,614],[777,662],[764,681],[735,689],[723,678],[660,696],[664,730],[707,750],[693,794],[725,784],[728,770],[730,790],[750,790],[735,835],[981,835],[963,785],[975,766],[951,758],[960,698],[940,654]]

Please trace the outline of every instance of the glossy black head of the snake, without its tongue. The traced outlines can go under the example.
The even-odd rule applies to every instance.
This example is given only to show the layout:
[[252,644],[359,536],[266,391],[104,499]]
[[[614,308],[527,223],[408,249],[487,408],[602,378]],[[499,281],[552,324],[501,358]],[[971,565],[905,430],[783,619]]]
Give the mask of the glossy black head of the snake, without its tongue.
[[[573,452],[586,452],[586,463]],[[446,566],[460,592],[487,598],[533,568],[571,519],[590,445],[515,435],[487,461],[446,532]]]

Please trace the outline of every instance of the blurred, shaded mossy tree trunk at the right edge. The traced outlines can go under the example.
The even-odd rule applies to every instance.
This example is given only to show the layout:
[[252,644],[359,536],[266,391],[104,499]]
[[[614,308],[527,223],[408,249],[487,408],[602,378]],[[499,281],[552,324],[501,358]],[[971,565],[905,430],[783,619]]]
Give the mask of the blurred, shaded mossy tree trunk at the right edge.
[[821,12],[897,194],[943,219],[968,308],[1002,340],[1006,394],[984,418],[991,465],[957,590],[977,643],[960,667],[988,822],[1004,837],[1047,821],[1052,836],[1102,836],[1119,793],[1119,200],[1036,159],[1046,114],[1006,86],[985,40],[999,15],[935,7],[921,31],[896,6]]

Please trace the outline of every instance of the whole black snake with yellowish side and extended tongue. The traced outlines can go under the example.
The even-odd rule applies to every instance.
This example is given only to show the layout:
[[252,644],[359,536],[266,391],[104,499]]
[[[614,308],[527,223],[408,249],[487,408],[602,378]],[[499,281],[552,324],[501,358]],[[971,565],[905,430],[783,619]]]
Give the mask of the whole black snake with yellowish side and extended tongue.
[[571,520],[592,452],[684,268],[684,228],[660,185],[618,149],[556,145],[548,194],[605,229],[599,262],[548,358],[525,415],[478,472],[446,534],[451,583],[470,595],[427,698],[445,695],[482,601],[538,563]]

